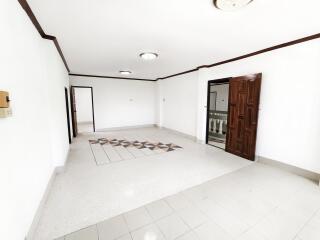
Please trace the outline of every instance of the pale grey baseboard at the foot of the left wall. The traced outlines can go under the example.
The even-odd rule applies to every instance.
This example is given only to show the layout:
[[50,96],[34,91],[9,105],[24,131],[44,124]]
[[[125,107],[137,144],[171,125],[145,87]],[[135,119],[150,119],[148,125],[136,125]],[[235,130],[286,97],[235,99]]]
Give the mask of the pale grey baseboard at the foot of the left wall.
[[[65,163],[69,157],[69,153],[70,153],[70,149],[67,153],[67,156],[66,156],[66,159],[65,159]],[[46,190],[41,198],[41,201],[39,203],[39,206],[38,206],[38,209],[33,217],[33,220],[32,220],[32,223],[31,223],[31,226],[29,228],[29,231],[28,231],[28,234],[27,236],[25,237],[25,240],[33,240],[34,239],[34,235],[36,233],[36,230],[37,230],[37,227],[39,225],[39,222],[40,222],[40,218],[42,216],[42,213],[43,213],[43,209],[48,201],[48,197],[49,197],[49,194],[52,190],[52,186],[53,186],[53,183],[54,183],[54,180],[56,178],[57,175],[61,174],[61,173],[64,173],[66,170],[65,168],[65,164],[63,166],[58,166],[58,167],[55,167],[55,169],[53,170],[52,174],[51,174],[51,177],[49,179],[49,182],[47,184],[47,187],[46,187]]]

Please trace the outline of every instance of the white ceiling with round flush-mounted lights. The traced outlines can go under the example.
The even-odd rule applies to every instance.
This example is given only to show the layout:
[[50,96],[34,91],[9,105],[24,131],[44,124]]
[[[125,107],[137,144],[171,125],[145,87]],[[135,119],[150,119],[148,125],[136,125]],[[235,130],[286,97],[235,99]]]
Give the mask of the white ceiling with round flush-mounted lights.
[[[155,79],[320,32],[319,0],[28,0],[72,73]],[[159,53],[155,61],[138,57]]]

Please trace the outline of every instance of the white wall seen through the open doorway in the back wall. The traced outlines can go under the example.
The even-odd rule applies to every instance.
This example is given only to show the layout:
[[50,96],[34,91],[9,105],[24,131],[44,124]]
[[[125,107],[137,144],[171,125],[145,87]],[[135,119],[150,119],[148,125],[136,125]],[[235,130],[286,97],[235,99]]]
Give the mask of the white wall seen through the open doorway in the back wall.
[[75,88],[77,121],[92,122],[91,88]]

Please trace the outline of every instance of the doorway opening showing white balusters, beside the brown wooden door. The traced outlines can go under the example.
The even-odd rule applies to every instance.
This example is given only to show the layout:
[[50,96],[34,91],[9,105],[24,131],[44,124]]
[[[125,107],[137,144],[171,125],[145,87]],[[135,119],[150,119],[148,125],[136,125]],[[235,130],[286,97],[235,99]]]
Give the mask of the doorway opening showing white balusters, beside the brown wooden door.
[[206,143],[226,148],[230,78],[208,82]]

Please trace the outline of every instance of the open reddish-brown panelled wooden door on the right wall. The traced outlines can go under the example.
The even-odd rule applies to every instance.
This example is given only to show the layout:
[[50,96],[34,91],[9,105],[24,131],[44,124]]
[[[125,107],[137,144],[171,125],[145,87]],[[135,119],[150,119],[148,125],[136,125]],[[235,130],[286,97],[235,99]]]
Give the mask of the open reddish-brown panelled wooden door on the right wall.
[[226,151],[254,160],[262,74],[230,79]]

